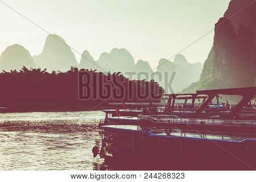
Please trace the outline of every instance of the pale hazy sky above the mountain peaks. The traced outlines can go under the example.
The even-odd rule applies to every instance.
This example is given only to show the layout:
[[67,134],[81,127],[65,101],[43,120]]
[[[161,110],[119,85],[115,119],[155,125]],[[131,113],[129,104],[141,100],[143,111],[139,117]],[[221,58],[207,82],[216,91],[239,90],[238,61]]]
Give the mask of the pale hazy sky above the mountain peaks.
[[[40,27],[61,36],[94,59],[126,48],[135,61],[156,67],[214,28],[230,0],[1,0]],[[47,33],[0,1],[0,52],[18,43],[31,55],[42,52]],[[190,63],[207,58],[214,32],[182,52]],[[76,55],[77,61],[81,56]]]

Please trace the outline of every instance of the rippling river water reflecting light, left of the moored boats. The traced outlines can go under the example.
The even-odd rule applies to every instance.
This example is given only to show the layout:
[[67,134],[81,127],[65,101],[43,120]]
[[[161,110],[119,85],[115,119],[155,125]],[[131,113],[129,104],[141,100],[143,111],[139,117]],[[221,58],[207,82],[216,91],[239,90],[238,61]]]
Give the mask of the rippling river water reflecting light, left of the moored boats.
[[0,170],[106,170],[94,159],[101,111],[1,113]]

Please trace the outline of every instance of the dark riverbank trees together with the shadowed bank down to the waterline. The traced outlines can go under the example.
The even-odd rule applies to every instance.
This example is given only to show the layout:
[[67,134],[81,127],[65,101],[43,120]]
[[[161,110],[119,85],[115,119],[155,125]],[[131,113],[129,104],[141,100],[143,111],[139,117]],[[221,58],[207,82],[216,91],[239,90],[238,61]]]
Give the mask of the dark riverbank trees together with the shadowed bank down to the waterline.
[[[109,85],[119,90],[121,97],[79,99],[79,74],[86,73],[97,86]],[[0,73],[0,113],[31,111],[86,111],[109,108],[109,102],[160,102],[164,90],[154,80],[129,80],[118,73],[102,73],[96,70],[71,67],[67,72],[46,69],[27,69],[3,71]],[[119,85],[119,88],[118,88]],[[94,90],[94,91],[93,91]],[[102,87],[93,88],[92,94],[106,94],[112,90]],[[141,95],[143,92],[143,97]],[[132,97],[130,95],[132,94]],[[154,97],[152,97],[154,96]],[[3,108],[5,107],[5,108]]]

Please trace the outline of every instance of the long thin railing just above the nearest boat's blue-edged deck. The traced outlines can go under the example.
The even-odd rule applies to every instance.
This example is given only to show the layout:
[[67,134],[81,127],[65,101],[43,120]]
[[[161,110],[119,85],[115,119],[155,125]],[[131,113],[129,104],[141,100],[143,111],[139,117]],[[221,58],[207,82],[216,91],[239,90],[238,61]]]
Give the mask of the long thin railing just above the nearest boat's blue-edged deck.
[[150,120],[154,123],[193,123],[199,125],[221,125],[221,126],[256,126],[256,121],[224,120],[224,119],[191,119],[179,118],[175,115],[140,115],[142,119]]

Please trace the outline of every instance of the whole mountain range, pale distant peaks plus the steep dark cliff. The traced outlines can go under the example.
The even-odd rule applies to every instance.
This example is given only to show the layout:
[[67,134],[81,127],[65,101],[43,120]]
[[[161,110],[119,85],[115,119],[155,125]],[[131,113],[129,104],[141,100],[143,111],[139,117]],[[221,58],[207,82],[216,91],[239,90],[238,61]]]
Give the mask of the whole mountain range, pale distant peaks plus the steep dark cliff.
[[[256,75],[256,3],[253,2],[230,1],[224,16],[215,25],[213,47],[203,71],[201,63],[189,64],[183,55],[176,55],[174,62],[160,59],[156,70],[152,70],[147,61],[135,63],[133,56],[124,48],[104,52],[98,60],[84,51],[78,64],[72,49],[55,34],[48,35],[42,53],[37,56],[31,57],[26,48],[17,44],[7,47],[0,56],[0,69],[10,71],[24,65],[27,68],[47,68],[48,72],[65,72],[73,66],[97,69],[98,72],[122,72],[130,79],[154,79],[167,92],[170,92],[167,88],[174,72],[176,75],[171,84],[175,92],[253,86]],[[134,75],[126,72],[134,72]]]

